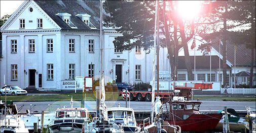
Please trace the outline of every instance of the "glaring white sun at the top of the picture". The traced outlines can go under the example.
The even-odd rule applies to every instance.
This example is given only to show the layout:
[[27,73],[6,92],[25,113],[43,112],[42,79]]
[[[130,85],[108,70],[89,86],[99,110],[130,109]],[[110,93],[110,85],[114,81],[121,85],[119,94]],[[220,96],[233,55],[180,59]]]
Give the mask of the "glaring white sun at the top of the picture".
[[177,1],[178,14],[187,20],[198,16],[201,11],[202,1]]

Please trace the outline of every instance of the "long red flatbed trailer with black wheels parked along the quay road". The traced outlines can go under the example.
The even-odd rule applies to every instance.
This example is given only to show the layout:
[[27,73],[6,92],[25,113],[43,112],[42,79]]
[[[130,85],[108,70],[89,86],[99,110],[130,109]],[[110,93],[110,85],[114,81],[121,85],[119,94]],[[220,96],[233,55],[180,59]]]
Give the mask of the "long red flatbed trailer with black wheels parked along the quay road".
[[[174,95],[173,90],[180,90],[182,95],[187,95],[192,89],[196,90],[206,90],[212,89],[212,83],[204,82],[188,82],[188,81],[173,81],[171,83],[171,90],[159,90],[159,96],[161,99],[166,99]],[[130,91],[130,100],[131,101],[151,101],[152,92],[151,91]],[[119,92],[119,95],[122,95],[122,91]],[[157,91],[155,91],[155,97],[157,96]]]

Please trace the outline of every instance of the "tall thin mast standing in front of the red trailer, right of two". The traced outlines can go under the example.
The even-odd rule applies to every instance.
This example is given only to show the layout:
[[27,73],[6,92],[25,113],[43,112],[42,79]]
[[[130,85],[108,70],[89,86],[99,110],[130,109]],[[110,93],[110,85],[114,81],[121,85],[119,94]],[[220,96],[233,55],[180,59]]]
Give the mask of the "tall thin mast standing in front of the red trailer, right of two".
[[[159,1],[157,1],[159,7]],[[159,97],[159,8],[157,7],[157,96]]]

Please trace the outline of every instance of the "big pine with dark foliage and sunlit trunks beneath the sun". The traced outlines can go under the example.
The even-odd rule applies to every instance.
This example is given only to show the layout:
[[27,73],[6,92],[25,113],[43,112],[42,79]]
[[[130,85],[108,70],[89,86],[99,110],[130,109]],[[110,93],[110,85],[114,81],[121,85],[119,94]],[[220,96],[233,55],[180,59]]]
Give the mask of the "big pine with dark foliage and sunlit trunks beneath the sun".
[[[167,47],[171,64],[172,79],[177,80],[178,50],[184,48],[189,80],[192,68],[189,57],[188,41],[194,36],[194,21],[185,21],[177,15],[177,1],[163,1],[160,4],[160,29],[165,38],[161,46]],[[116,37],[114,45],[121,50],[135,46],[148,50],[154,42],[155,2],[154,1],[106,1],[104,8],[110,16],[105,26],[113,26],[123,36]],[[198,19],[199,20],[199,19]]]

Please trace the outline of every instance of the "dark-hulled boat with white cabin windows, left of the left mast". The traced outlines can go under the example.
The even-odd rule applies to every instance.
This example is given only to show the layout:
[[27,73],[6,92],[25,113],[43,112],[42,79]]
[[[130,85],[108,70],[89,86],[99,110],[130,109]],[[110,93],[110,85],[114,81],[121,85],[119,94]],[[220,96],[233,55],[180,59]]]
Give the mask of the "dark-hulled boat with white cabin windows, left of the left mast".
[[86,108],[60,108],[55,112],[53,123],[48,126],[50,132],[81,132],[82,126],[88,123]]

